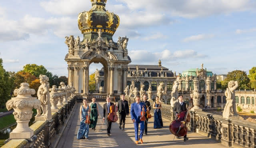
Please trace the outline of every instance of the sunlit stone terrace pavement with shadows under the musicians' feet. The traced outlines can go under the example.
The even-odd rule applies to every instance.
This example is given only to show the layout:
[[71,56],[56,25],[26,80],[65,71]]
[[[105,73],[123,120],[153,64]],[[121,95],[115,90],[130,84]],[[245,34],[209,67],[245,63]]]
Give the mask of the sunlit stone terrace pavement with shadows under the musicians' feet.
[[163,119],[164,127],[162,129],[154,129],[154,118],[150,118],[148,122],[148,135],[143,136],[144,144],[136,145],[134,136],[134,125],[131,117],[126,117],[125,131],[119,130],[118,123],[112,123],[112,131],[110,137],[107,136],[106,124],[102,122],[103,104],[105,102],[97,102],[100,110],[96,130],[90,129],[89,138],[87,140],[77,140],[76,135],[80,126],[79,108],[82,104],[77,104],[63,133],[58,148],[224,148],[220,143],[211,140],[197,133],[188,133],[189,140],[184,142],[183,138],[174,138],[170,133],[168,120]]

